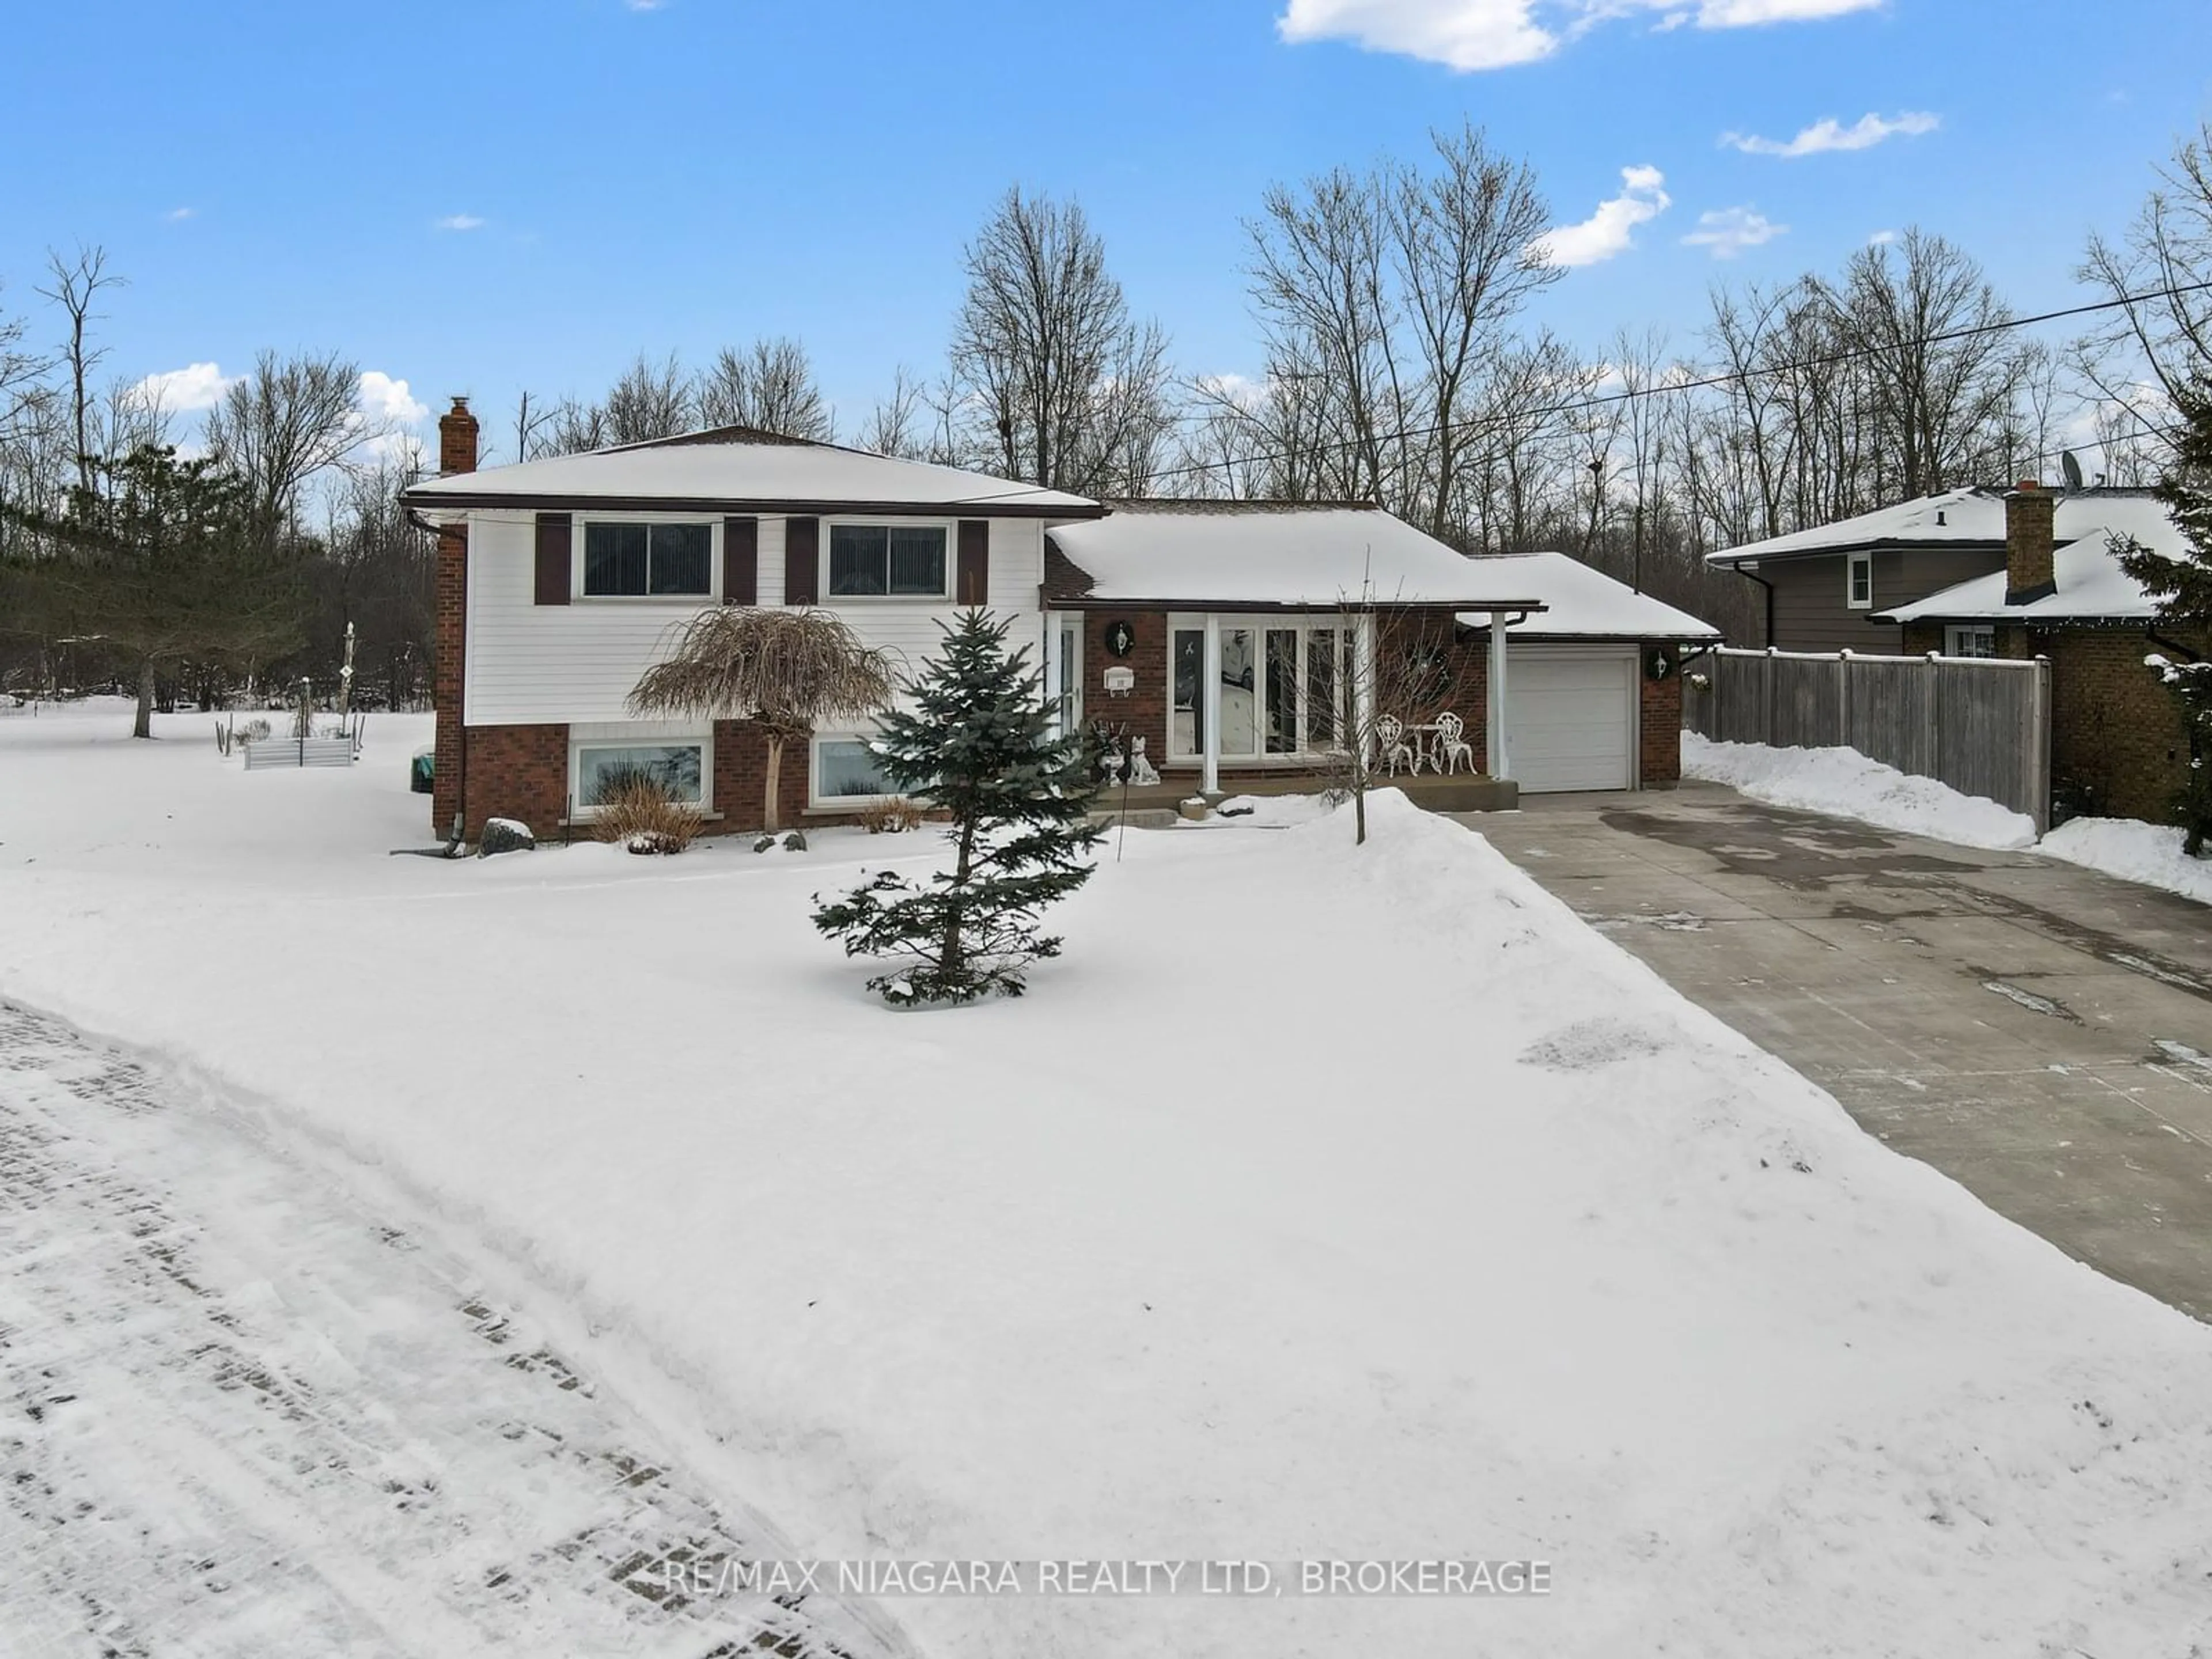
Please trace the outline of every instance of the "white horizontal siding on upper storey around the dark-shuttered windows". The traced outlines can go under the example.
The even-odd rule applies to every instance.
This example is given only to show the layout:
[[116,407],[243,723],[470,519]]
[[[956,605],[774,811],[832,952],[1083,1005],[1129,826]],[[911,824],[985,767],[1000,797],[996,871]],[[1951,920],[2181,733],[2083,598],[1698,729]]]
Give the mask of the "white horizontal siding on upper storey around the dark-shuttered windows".
[[[931,520],[933,522],[933,520]],[[825,538],[827,540],[827,538]],[[582,538],[577,538],[582,544]],[[783,604],[783,518],[761,518],[759,604]],[[582,562],[582,546],[577,549]],[[577,577],[582,580],[582,577]],[[991,520],[991,613],[1013,619],[1011,646],[1029,646],[1040,666],[1044,619],[1044,522]],[[721,524],[714,526],[714,588],[721,595]],[[670,624],[695,615],[699,599],[577,599],[535,604],[535,520],[529,513],[478,513],[469,520],[469,726],[544,726],[628,719],[637,677],[661,655]],[[712,604],[714,599],[708,599]],[[823,608],[852,624],[869,646],[894,653],[900,672],[920,668],[951,622],[951,599],[872,597]]]

